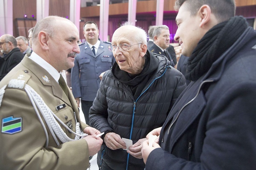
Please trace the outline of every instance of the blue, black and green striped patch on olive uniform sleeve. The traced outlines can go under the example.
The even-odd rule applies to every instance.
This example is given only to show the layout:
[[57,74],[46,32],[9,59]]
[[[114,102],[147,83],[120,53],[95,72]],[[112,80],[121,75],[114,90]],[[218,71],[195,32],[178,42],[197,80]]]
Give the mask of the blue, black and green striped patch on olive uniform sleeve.
[[22,131],[22,118],[13,116],[2,119],[2,133],[14,134]]

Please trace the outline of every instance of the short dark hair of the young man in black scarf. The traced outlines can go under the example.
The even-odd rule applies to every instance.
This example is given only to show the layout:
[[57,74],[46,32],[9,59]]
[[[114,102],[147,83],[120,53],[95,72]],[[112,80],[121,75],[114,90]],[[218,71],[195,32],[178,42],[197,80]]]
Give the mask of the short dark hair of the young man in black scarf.
[[202,5],[209,5],[212,13],[219,22],[229,20],[236,13],[236,3],[234,0],[176,0],[175,10],[179,10],[181,5],[186,2],[186,8],[195,16]]

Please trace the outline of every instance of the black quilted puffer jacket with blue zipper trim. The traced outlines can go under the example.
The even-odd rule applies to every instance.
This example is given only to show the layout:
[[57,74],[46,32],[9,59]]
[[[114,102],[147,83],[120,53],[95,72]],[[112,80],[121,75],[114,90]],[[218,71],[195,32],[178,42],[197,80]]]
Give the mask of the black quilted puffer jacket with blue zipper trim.
[[[90,126],[100,132],[114,132],[121,138],[131,139],[133,144],[162,126],[186,87],[185,78],[169,66],[166,57],[151,52],[147,54],[151,61],[158,63],[158,67],[137,100],[134,100],[130,87],[116,80],[111,70],[105,72],[90,108]],[[98,152],[97,163],[103,170],[143,170],[145,167],[143,159],[137,159],[123,149],[111,150],[105,144]]]

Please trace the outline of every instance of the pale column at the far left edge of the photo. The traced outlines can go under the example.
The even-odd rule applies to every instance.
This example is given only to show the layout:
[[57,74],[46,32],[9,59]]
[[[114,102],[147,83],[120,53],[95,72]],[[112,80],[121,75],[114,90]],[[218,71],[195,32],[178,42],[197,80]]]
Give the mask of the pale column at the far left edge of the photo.
[[13,35],[13,0],[0,0],[0,36]]

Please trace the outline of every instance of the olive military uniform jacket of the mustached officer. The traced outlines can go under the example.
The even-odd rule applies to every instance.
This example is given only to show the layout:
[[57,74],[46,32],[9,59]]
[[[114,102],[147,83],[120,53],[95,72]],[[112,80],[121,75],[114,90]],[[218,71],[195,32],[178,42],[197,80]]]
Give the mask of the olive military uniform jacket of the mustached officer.
[[[57,146],[40,113],[48,135],[46,146],[46,133],[24,90],[25,85],[31,86],[61,121],[72,123],[74,132],[75,117],[80,122],[79,111],[72,92],[68,91],[69,100],[58,82],[28,58],[30,55],[26,54],[22,62],[0,82],[2,89],[11,79],[24,81],[24,86],[18,88],[7,86],[0,105],[0,169],[87,169],[89,151],[86,140],[59,141]],[[57,110],[59,105],[63,107]],[[74,134],[60,126],[68,137],[74,139]],[[82,131],[86,126],[80,124]]]

